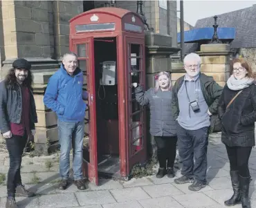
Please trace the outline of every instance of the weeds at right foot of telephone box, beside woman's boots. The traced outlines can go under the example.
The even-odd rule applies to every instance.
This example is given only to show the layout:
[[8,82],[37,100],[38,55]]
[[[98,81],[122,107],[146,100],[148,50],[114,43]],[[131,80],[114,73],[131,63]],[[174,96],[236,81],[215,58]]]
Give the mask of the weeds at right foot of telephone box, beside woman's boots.
[[143,178],[145,176],[152,176],[156,173],[154,167],[158,161],[156,158],[151,158],[146,164],[136,164],[131,169],[131,178]]

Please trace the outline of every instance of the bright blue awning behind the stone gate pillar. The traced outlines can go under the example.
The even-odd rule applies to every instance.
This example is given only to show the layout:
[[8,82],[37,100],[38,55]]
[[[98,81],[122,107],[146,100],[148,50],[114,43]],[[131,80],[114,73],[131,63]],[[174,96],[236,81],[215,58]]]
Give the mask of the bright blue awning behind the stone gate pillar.
[[[184,32],[185,43],[197,43],[202,40],[211,40],[214,28],[196,28]],[[235,39],[235,28],[217,28],[217,34],[221,40]],[[178,44],[181,43],[181,32],[177,34]]]

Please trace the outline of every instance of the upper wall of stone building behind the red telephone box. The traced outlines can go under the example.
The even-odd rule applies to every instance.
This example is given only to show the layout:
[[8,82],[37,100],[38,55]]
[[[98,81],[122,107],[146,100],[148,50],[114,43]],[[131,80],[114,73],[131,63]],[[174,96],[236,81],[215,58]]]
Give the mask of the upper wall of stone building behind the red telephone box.
[[[69,19],[107,2],[0,1],[0,79],[17,57],[26,57],[35,70],[57,67],[68,52]],[[116,7],[136,12],[137,5],[136,1],[116,1]],[[176,47],[176,1],[144,1],[143,11],[149,26],[171,35],[172,47]]]

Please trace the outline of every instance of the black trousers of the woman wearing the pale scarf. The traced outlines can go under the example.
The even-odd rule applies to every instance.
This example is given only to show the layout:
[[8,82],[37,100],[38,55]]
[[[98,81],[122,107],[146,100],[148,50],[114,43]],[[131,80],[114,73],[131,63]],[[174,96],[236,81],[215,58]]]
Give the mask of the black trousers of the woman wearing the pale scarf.
[[239,175],[249,177],[250,171],[248,161],[252,146],[227,146],[228,159],[230,162],[230,171],[239,171]]

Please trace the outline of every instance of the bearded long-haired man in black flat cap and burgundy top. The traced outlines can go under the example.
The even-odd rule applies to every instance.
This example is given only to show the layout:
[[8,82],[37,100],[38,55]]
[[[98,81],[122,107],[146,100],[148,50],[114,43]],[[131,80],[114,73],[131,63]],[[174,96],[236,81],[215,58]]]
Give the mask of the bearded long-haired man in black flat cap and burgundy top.
[[35,196],[22,185],[20,172],[24,148],[35,135],[37,123],[31,64],[26,59],[16,59],[12,67],[0,83],[0,131],[10,158],[6,208],[17,208],[15,196]]

